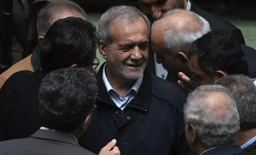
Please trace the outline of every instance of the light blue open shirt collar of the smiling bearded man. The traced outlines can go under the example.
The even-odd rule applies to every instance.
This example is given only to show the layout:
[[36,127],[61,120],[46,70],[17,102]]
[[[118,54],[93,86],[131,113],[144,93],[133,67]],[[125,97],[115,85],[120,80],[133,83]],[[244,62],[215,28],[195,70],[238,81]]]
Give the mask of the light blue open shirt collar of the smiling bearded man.
[[136,94],[138,93],[139,89],[140,89],[140,86],[142,85],[142,80],[143,80],[143,75],[138,78],[136,80],[136,82],[134,83],[134,85],[132,86],[132,88],[130,89],[130,91],[128,91],[126,93],[126,95],[124,96],[125,99],[122,99],[120,98],[120,94],[117,93],[117,91],[115,91],[111,85],[109,84],[109,81],[106,77],[106,74],[105,74],[105,67],[106,67],[106,64],[103,68],[103,74],[102,74],[102,77],[103,77],[103,82],[107,88],[107,92],[109,93],[109,96],[110,98],[112,99],[112,101],[116,104],[116,106],[118,108],[120,108],[121,110],[124,110],[124,108],[127,106],[127,104],[132,100],[134,99],[134,97],[136,96]]

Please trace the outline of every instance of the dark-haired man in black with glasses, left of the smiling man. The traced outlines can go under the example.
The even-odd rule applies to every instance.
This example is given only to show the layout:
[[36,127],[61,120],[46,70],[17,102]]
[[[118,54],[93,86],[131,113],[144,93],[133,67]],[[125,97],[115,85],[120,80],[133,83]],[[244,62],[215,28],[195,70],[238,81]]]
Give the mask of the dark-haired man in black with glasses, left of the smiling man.
[[96,27],[81,18],[53,23],[41,42],[41,68],[14,73],[0,89],[1,140],[25,138],[41,127],[38,92],[45,74],[76,66],[90,69],[98,42]]

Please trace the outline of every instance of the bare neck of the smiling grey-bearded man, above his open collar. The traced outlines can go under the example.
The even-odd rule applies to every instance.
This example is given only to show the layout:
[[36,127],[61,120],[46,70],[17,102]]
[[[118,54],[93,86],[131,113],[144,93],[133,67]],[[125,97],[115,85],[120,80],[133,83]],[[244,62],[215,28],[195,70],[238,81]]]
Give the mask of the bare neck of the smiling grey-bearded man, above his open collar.
[[111,87],[115,91],[117,91],[122,98],[124,98],[126,93],[132,88],[132,86],[136,82],[136,80],[128,80],[119,75],[112,74],[108,66],[106,66],[105,73]]

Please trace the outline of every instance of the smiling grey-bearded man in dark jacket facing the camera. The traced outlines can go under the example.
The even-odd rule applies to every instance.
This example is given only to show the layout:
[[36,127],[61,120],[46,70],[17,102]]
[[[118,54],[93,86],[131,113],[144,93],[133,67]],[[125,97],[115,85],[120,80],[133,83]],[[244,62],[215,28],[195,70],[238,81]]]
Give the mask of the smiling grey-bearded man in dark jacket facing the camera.
[[117,140],[122,155],[185,155],[184,92],[145,69],[150,23],[132,6],[107,10],[99,21],[97,109],[80,145],[99,153]]

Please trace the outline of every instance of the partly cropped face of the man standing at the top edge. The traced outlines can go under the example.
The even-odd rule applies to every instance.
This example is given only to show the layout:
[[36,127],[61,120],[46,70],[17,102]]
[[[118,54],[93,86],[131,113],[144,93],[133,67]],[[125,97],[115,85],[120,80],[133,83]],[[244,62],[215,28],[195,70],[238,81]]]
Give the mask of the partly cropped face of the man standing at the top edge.
[[169,9],[184,8],[184,0],[139,0],[140,8],[147,17],[158,19]]

